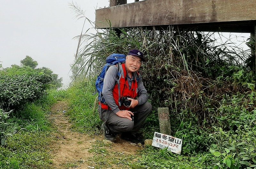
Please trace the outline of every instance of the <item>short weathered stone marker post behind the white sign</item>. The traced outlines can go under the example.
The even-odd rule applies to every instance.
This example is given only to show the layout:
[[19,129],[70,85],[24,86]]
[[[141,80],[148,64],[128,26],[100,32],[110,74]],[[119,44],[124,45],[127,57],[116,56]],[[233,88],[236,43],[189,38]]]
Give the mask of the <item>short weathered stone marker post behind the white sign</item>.
[[171,122],[169,116],[169,108],[168,107],[158,107],[158,118],[159,118],[159,126],[160,133],[171,135]]

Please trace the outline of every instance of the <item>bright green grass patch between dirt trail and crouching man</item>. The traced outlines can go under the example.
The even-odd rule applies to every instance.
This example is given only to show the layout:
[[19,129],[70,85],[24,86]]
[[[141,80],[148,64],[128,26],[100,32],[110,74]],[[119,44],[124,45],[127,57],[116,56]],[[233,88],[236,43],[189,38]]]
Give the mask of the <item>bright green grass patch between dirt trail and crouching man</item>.
[[94,85],[80,82],[68,89],[69,110],[67,114],[79,132],[95,133],[100,128],[101,121],[97,113],[97,98],[92,95]]

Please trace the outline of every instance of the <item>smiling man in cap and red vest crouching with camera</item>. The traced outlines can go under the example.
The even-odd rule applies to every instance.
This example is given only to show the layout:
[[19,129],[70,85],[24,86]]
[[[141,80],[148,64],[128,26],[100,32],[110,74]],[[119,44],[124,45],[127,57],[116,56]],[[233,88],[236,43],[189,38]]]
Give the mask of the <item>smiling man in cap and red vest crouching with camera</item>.
[[[98,112],[104,122],[101,127],[107,140],[116,142],[116,135],[121,133],[122,139],[134,143],[144,142],[138,131],[151,112],[152,106],[147,101],[147,91],[137,73],[142,61],[145,61],[143,54],[137,49],[132,49],[126,56],[125,63],[120,66],[124,76],[120,76],[119,83],[116,65],[110,66],[106,72],[102,95],[107,104],[100,103]],[[127,100],[128,105],[125,106],[124,101],[127,103]]]

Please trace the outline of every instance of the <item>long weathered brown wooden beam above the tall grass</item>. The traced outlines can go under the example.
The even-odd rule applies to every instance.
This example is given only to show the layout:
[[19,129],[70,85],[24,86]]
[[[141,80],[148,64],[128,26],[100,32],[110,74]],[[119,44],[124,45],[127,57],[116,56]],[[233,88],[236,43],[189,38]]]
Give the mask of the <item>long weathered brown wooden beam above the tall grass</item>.
[[[256,21],[256,0],[145,0],[96,10],[96,28]],[[232,25],[232,24],[231,24]]]

